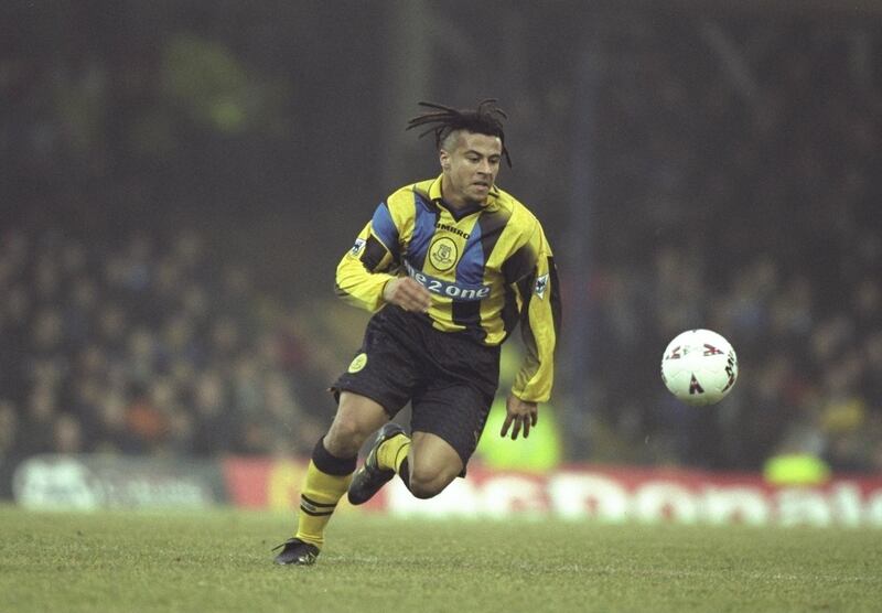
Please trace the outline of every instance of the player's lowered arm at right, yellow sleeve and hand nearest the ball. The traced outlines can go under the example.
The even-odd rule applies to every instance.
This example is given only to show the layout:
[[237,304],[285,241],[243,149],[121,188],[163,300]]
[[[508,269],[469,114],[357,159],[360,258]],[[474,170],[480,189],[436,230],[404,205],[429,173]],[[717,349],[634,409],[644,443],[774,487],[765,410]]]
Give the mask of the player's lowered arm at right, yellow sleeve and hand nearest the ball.
[[525,248],[531,256],[531,266],[516,282],[516,289],[520,297],[520,331],[526,355],[512,386],[502,430],[504,437],[508,427],[514,424],[512,438],[517,438],[521,429],[525,437],[529,433],[529,428],[536,426],[538,419],[538,404],[551,397],[555,346],[561,320],[555,256],[538,223]]

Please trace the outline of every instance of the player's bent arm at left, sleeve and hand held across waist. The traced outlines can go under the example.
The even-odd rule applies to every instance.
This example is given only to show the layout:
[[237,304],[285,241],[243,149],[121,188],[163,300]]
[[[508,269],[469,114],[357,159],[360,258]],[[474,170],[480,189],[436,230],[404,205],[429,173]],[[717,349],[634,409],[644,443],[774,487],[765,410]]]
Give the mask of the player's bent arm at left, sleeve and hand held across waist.
[[429,291],[413,279],[396,275],[401,265],[399,237],[404,222],[394,218],[386,203],[377,206],[374,217],[337,265],[338,297],[370,312],[378,311],[386,302],[408,311],[429,309]]

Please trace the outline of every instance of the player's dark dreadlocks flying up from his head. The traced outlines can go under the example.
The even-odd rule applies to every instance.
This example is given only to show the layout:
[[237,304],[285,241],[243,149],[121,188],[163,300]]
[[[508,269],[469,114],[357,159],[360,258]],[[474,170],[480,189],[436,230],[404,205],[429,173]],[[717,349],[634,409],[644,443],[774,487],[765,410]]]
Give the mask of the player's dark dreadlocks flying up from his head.
[[508,119],[508,115],[496,106],[496,98],[481,100],[477,108],[474,110],[455,109],[435,103],[420,101],[418,104],[421,107],[432,109],[422,115],[418,115],[407,122],[407,130],[421,126],[429,126],[429,129],[420,132],[418,138],[434,133],[435,147],[440,149],[444,139],[456,130],[466,130],[477,135],[499,137],[503,143],[505,162],[508,164],[508,168],[512,168],[512,158],[508,155],[508,150],[505,148],[505,131],[503,130],[503,119]]

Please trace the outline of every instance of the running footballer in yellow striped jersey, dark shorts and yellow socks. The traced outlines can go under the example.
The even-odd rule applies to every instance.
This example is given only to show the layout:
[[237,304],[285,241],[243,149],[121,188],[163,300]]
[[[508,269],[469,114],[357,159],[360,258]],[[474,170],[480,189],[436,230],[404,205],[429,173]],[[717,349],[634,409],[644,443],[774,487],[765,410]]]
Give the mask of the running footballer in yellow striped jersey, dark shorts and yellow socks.
[[[498,387],[499,346],[518,323],[526,356],[501,435],[526,438],[551,394],[557,271],[537,218],[496,185],[502,160],[510,166],[506,115],[493,99],[467,110],[420,105],[408,129],[434,135],[441,174],[381,202],[337,266],[337,294],[374,315],[332,386],[336,416],[312,452],[279,564],[315,562],[344,493],[363,504],[397,474],[431,498],[465,474]],[[409,434],[390,421],[407,402]]]

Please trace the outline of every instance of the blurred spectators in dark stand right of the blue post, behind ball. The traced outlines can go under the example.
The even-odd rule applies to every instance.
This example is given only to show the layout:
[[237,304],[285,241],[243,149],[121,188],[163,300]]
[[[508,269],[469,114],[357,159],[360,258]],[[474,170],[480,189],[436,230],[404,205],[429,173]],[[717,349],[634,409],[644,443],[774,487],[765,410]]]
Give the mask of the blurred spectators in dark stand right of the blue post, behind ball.
[[[882,29],[671,19],[620,33],[599,110],[615,206],[593,221],[595,451],[882,471]],[[718,407],[635,383],[693,327],[740,357]]]

